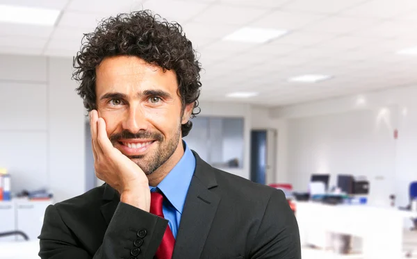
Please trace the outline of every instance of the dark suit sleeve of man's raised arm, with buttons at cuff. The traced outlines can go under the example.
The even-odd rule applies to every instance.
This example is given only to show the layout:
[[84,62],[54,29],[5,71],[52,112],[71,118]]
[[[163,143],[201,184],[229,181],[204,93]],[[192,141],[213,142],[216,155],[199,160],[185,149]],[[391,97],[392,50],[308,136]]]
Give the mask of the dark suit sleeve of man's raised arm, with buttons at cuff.
[[58,209],[50,205],[45,212],[39,236],[42,259],[152,259],[167,228],[166,219],[120,202],[101,247],[91,255],[81,247]]

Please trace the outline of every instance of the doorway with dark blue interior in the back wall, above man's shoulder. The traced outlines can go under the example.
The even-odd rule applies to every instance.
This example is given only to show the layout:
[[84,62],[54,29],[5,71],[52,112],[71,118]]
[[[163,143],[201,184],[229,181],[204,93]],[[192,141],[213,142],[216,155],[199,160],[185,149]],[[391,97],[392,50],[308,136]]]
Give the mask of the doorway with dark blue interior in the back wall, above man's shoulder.
[[250,134],[250,179],[269,185],[275,182],[277,131],[256,129]]

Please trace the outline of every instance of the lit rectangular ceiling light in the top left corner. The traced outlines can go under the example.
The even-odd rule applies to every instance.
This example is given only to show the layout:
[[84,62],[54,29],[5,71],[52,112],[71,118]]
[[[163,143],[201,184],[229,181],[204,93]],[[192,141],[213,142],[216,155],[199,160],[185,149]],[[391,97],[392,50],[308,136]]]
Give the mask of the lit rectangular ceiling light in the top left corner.
[[0,5],[0,22],[54,26],[60,10]]

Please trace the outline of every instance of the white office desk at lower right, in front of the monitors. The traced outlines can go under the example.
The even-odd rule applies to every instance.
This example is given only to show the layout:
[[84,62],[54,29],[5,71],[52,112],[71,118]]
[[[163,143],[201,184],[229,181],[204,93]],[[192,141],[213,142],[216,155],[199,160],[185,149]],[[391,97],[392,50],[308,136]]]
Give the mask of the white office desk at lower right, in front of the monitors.
[[361,237],[364,259],[402,258],[404,218],[417,217],[417,212],[363,205],[297,202],[296,208],[302,245],[317,231],[354,235]]

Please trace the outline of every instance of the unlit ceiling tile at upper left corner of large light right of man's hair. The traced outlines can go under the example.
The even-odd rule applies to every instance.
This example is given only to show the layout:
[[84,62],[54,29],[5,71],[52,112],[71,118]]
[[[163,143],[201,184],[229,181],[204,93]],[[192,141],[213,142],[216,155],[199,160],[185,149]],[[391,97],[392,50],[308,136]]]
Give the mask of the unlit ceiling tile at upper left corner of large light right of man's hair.
[[256,18],[265,15],[268,11],[266,8],[234,7],[216,4],[204,10],[193,21],[206,24],[238,24],[245,26]]

